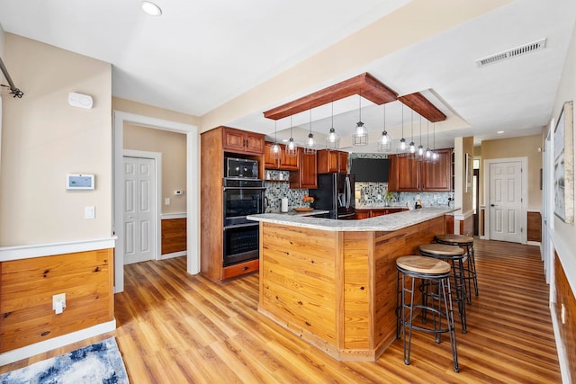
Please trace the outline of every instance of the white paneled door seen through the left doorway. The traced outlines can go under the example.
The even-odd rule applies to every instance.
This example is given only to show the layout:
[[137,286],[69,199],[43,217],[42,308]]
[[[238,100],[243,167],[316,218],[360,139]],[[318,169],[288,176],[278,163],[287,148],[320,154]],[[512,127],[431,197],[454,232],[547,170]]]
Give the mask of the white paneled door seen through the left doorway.
[[156,258],[156,173],[150,158],[124,156],[124,264]]

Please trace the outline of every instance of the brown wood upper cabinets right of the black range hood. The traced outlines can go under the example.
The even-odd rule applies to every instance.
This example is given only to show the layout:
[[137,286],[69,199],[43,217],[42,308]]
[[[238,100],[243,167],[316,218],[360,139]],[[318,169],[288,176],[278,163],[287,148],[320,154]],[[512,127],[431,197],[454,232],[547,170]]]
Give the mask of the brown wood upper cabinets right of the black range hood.
[[452,185],[452,148],[437,149],[437,163],[420,162],[409,156],[389,156],[393,192],[450,192]]

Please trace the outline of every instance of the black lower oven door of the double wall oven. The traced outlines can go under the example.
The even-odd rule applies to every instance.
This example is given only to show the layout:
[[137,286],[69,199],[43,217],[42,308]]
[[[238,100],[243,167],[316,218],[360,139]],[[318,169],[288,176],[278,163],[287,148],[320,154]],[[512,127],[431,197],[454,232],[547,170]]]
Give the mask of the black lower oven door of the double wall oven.
[[223,266],[257,259],[258,238],[258,223],[225,227]]

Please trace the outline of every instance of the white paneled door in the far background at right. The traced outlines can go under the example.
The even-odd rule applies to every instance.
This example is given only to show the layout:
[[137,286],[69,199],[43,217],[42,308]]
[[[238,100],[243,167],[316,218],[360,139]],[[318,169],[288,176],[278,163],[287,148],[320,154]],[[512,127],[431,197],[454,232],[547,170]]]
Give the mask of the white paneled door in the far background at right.
[[490,238],[522,243],[522,162],[491,163],[489,174]]

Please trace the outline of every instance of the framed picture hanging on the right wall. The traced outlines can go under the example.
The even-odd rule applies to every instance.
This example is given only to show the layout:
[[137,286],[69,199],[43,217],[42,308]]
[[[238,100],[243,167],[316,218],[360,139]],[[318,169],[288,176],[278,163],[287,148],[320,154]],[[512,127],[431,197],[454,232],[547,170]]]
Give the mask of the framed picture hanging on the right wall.
[[574,222],[573,102],[566,102],[554,128],[554,214]]

